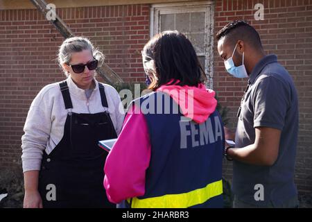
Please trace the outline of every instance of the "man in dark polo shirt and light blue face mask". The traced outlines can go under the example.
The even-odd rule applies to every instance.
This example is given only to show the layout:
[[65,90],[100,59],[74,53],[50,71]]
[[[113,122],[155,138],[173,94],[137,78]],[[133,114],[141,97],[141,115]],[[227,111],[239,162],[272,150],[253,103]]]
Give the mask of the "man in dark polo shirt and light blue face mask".
[[[294,183],[297,92],[277,56],[263,51],[257,31],[243,21],[216,35],[218,53],[236,78],[249,78],[237,114],[233,161],[234,207],[298,207]],[[225,135],[231,138],[230,133]]]

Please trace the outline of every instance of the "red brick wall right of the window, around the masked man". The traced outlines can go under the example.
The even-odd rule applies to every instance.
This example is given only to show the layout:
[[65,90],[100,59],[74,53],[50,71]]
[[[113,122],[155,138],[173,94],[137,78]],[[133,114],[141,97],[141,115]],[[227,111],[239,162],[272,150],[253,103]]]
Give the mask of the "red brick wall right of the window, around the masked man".
[[[264,20],[254,19],[254,5],[263,3]],[[227,22],[245,19],[261,35],[266,53],[277,54],[295,81],[300,105],[300,133],[295,180],[300,192],[312,191],[312,1],[216,1],[214,33]],[[215,46],[217,45],[215,40]],[[236,112],[246,80],[225,72],[223,61],[214,51],[214,89],[231,111],[230,127],[236,126]],[[232,177],[232,164],[225,162],[224,173]]]

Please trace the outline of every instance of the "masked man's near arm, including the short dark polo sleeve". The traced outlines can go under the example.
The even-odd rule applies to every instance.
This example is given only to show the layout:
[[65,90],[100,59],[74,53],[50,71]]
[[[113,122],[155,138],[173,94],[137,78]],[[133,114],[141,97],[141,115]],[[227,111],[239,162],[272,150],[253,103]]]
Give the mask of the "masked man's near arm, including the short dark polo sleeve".
[[288,85],[275,76],[257,80],[252,97],[254,110],[254,144],[229,148],[227,154],[248,164],[271,166],[277,160],[281,130],[291,102]]

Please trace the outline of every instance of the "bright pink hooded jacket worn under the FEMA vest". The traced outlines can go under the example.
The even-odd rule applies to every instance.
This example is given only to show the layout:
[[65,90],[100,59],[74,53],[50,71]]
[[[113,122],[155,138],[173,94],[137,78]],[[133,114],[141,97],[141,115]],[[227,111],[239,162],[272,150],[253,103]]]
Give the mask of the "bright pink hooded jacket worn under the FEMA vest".
[[[177,90],[179,93],[170,94],[171,90]],[[198,87],[162,85],[157,91],[170,94],[180,105],[182,114],[197,123],[206,121],[216,110],[215,92],[206,89],[203,84]],[[186,99],[188,96],[192,97],[193,104],[188,104],[189,100]],[[144,195],[146,169],[150,164],[150,148],[144,114],[132,105],[125,116],[121,133],[105,162],[103,184],[110,202],[120,203],[121,200]]]

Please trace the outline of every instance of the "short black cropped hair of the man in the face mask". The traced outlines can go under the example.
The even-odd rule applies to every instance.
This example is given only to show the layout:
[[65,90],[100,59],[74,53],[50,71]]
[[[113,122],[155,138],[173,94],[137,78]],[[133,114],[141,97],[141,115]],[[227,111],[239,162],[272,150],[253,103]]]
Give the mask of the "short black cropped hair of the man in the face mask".
[[231,41],[235,44],[238,40],[243,40],[250,43],[251,46],[255,48],[261,48],[262,44],[260,40],[259,33],[250,26],[248,22],[244,20],[235,20],[229,22],[216,34],[216,39],[220,40],[222,37],[231,35]]

